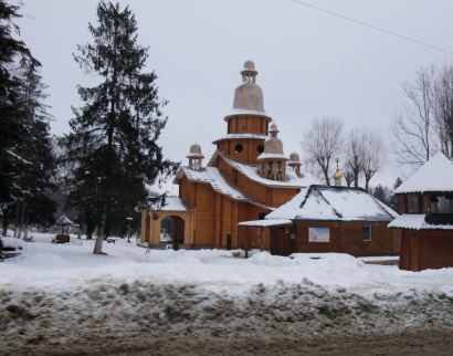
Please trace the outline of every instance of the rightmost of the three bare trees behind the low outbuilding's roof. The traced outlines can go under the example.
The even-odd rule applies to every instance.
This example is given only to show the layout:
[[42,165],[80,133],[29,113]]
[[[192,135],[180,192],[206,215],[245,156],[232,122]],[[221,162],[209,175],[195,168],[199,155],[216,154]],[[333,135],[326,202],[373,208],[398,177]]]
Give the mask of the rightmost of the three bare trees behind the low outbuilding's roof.
[[387,148],[382,136],[369,128],[364,129],[364,156],[361,169],[365,175],[365,190],[376,172],[380,171],[387,161]]

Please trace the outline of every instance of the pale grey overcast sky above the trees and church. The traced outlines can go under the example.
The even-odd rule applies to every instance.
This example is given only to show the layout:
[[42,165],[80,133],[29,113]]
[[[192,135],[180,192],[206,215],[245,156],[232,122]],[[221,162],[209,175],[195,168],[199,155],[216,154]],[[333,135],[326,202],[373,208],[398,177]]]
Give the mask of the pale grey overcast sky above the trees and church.
[[[11,0],[17,3],[18,0]],[[74,62],[76,44],[93,42],[95,0],[23,0],[21,39],[41,61],[55,117],[52,133],[69,133],[76,85],[93,85]],[[305,3],[453,52],[451,0],[304,0]],[[277,123],[285,154],[303,155],[302,133],[314,117],[335,115],[346,129],[370,126],[388,136],[403,101],[401,84],[417,70],[451,55],[292,0],[128,0],[138,42],[149,45],[169,122],[160,137],[166,157],[186,165],[193,143],[209,160],[227,133],[223,117],[246,60],[259,71],[264,107]],[[388,167],[371,186],[401,175]]]

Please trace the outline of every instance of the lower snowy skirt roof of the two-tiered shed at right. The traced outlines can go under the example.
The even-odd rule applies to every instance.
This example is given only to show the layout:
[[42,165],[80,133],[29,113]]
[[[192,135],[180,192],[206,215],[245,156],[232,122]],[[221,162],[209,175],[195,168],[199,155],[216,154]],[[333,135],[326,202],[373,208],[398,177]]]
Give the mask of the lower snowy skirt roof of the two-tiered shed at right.
[[[432,214],[426,217],[424,213],[404,213],[390,222],[388,228],[413,230],[453,230],[453,223],[449,223],[447,221],[436,221],[436,218],[446,214]],[[451,217],[450,222],[453,222]]]

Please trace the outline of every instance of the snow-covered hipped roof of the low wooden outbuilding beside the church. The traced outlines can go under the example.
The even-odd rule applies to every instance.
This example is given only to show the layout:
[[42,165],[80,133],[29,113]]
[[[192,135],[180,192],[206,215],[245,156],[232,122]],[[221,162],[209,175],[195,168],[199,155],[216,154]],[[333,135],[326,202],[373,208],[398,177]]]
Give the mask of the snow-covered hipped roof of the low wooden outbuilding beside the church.
[[361,188],[312,186],[265,219],[391,221],[398,213]]

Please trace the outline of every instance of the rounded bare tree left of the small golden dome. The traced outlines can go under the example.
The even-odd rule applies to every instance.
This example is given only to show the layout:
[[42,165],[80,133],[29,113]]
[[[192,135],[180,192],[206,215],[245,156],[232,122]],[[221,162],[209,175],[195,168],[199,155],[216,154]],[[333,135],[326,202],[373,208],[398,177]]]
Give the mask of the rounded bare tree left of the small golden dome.
[[343,151],[343,122],[337,117],[313,119],[312,127],[303,133],[301,142],[305,154],[317,161],[324,180],[330,186],[330,161]]

